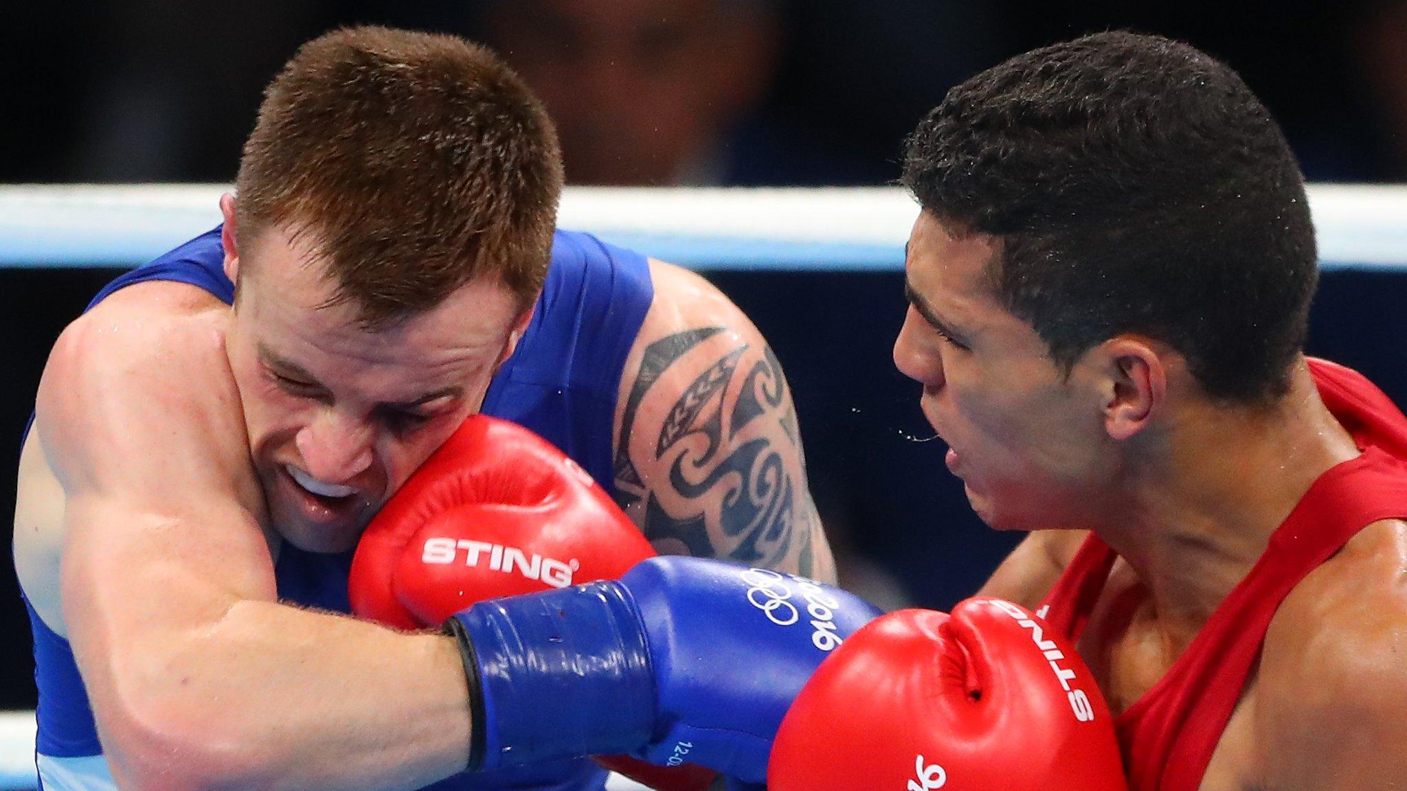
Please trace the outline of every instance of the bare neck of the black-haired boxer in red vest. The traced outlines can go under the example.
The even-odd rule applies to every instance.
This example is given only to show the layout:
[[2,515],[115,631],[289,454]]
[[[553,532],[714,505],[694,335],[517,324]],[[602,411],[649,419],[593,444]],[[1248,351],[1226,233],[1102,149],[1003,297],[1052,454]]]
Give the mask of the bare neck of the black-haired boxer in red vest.
[[1166,450],[1130,464],[1127,507],[1096,528],[1147,586],[1171,636],[1199,629],[1310,484],[1358,455],[1303,360],[1263,411],[1206,403],[1169,421]]

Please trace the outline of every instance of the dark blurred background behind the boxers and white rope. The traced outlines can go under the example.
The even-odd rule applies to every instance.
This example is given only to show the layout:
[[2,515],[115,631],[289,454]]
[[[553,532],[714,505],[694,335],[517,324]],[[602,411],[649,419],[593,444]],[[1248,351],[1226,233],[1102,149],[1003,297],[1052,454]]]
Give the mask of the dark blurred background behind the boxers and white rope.
[[[573,184],[892,183],[905,134],[951,84],[1107,28],[1230,62],[1310,180],[1407,179],[1407,0],[75,0],[0,3],[0,183],[229,182],[263,86],[300,42],[353,23],[498,49],[554,115]],[[114,274],[0,269],[4,448],[53,336]],[[889,608],[969,594],[1016,536],[971,515],[937,442],[910,439],[930,432],[889,362],[902,274],[706,274],[788,369],[843,583]],[[1401,280],[1327,274],[1311,350],[1407,403]],[[14,466],[0,453],[7,514]],[[0,708],[32,707],[13,574],[0,635]]]

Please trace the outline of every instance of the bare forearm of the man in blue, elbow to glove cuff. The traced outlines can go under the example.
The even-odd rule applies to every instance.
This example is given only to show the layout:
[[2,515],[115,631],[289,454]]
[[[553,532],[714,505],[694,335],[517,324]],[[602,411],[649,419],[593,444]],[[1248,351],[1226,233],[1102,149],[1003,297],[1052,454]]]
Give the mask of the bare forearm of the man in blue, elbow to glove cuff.
[[149,721],[128,721],[127,745],[108,749],[132,787],[419,788],[466,764],[449,638],[242,601],[179,639],[166,691],[134,712]]

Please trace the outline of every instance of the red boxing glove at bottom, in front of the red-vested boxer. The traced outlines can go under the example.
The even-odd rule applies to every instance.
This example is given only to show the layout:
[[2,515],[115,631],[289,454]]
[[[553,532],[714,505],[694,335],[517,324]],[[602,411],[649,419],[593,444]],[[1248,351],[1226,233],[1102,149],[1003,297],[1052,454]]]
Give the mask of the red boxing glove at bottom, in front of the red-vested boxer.
[[767,787],[1127,788],[1113,716],[1074,646],[992,598],[851,635],[787,712]]

